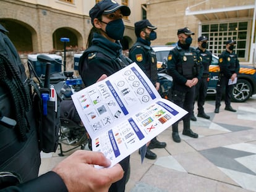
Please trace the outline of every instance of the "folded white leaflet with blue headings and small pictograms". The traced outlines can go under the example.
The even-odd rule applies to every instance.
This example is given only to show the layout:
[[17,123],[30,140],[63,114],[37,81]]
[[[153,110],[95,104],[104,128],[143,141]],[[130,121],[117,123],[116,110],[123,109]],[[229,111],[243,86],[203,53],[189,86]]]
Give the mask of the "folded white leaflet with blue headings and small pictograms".
[[135,63],[73,94],[72,99],[92,138],[93,151],[103,152],[111,167],[187,114],[162,99]]

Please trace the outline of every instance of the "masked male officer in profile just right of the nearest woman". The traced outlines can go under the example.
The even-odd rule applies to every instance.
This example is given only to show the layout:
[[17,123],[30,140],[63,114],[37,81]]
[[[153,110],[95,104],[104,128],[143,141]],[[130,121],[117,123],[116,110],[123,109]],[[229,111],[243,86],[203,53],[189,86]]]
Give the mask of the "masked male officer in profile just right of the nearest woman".
[[[151,42],[156,39],[156,27],[145,19],[134,23],[135,35],[137,41],[129,51],[129,58],[135,61],[137,65],[145,72],[155,85],[156,90],[159,90],[160,83],[158,82],[158,71],[156,69],[156,53],[150,47]],[[156,154],[150,149],[165,148],[166,143],[156,140],[156,137],[150,141],[145,157],[148,159],[156,159]]]

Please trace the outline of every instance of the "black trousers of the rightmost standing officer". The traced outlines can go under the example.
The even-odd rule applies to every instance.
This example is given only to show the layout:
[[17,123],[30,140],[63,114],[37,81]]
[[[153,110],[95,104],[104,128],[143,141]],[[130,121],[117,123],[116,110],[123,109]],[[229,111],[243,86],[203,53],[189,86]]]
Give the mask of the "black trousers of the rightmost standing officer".
[[220,76],[217,86],[216,86],[216,102],[215,106],[220,107],[221,106],[221,98],[223,94],[223,90],[225,90],[225,104],[226,106],[230,106],[231,104],[231,91],[233,90],[234,85],[228,85],[229,78],[225,76]]

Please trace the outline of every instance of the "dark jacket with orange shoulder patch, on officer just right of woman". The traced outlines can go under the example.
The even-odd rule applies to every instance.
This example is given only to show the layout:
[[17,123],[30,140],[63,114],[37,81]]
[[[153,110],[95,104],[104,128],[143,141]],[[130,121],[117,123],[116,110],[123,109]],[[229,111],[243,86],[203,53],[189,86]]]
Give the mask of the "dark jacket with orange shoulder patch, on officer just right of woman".
[[129,58],[139,65],[140,69],[146,73],[152,83],[158,82],[158,71],[156,69],[156,53],[150,47],[150,41],[138,38],[137,42],[130,48]]

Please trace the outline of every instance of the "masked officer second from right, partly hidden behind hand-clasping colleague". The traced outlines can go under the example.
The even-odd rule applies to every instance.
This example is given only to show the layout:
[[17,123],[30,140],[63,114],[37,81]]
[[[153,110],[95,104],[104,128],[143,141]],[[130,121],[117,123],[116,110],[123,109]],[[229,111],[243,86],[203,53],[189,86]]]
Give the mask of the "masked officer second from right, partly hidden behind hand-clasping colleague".
[[[205,98],[207,96],[207,87],[209,79],[209,65],[211,64],[212,55],[210,51],[207,51],[207,36],[198,37],[198,47],[200,59],[203,65],[203,76],[195,86],[195,99],[197,99],[198,114],[197,117],[204,119],[210,119],[210,116],[205,114],[203,105],[205,104]],[[195,104],[195,103],[194,103]],[[193,114],[194,115],[194,114]]]

